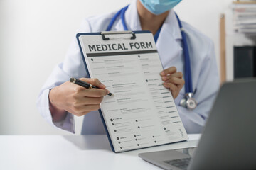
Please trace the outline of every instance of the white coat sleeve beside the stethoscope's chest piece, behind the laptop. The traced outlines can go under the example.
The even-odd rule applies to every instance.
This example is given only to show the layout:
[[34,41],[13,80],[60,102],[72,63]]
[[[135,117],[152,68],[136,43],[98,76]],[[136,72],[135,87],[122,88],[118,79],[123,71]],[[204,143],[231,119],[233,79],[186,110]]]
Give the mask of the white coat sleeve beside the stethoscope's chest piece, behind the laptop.
[[175,100],[181,120],[188,133],[202,132],[218,92],[218,67],[212,41],[209,42],[208,52],[202,63],[196,87],[193,88],[197,89],[194,98],[196,98],[198,106],[193,111],[180,106],[179,102],[184,97],[181,94]]

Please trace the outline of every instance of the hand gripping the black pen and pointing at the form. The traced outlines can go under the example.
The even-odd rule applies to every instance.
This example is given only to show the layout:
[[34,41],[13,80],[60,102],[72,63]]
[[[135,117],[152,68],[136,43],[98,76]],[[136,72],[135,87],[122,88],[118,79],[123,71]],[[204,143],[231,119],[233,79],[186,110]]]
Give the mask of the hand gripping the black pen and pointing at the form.
[[[82,84],[78,86],[66,81],[49,91],[49,108],[53,122],[64,120],[68,113],[81,116],[96,111],[100,108],[104,96],[108,94],[113,96],[98,79],[81,78],[79,80],[83,83],[86,81],[89,86],[84,87]],[[92,86],[91,89],[86,89],[90,86]]]

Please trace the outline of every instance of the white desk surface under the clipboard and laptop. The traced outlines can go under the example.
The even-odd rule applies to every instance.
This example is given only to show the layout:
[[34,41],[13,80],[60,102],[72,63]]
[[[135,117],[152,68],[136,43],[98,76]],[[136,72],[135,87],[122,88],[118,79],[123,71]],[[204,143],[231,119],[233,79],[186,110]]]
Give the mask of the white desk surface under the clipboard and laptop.
[[0,169],[160,169],[138,154],[195,147],[199,137],[189,135],[188,142],[115,154],[105,135],[1,135]]

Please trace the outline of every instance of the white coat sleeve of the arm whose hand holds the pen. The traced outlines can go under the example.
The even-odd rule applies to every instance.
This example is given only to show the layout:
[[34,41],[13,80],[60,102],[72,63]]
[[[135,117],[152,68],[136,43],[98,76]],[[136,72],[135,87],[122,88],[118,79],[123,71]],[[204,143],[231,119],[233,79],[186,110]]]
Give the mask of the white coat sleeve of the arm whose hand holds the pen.
[[[85,20],[78,33],[90,33],[91,28],[90,24]],[[67,130],[69,132],[75,133],[75,121],[74,115],[67,113],[65,119],[61,122],[53,122],[50,109],[49,109],[49,91],[55,86],[63,84],[65,81],[68,81],[70,77],[87,77],[85,72],[85,66],[82,62],[82,57],[80,55],[80,49],[78,46],[77,40],[74,38],[71,43],[67,55],[65,56],[64,62],[58,64],[53,72],[48,77],[48,80],[43,85],[43,88],[40,91],[38,99],[36,101],[36,106],[38,107],[39,112],[46,119],[50,125],[53,125],[55,128],[60,128],[62,130]]]

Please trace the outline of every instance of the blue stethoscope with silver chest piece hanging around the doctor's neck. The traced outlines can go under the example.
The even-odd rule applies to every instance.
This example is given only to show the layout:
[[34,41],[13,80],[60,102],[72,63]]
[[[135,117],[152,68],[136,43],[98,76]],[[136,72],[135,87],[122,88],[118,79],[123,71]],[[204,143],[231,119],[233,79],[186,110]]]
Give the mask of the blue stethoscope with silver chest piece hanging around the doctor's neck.
[[[110,21],[110,24],[107,26],[106,31],[110,31],[112,26],[114,25],[114,22],[117,20],[117,18],[120,16],[121,21],[122,21],[122,26],[124,27],[124,30],[128,30],[127,25],[125,23],[125,18],[124,18],[124,13],[127,10],[128,6],[125,6],[121,10],[119,10],[112,18]],[[193,88],[192,88],[192,78],[191,78],[191,64],[190,64],[190,57],[189,57],[189,52],[188,52],[188,43],[186,41],[186,34],[185,31],[181,25],[181,21],[178,18],[177,14],[175,13],[177,21],[178,21],[178,26],[181,29],[181,36],[182,36],[182,44],[183,44],[183,51],[184,51],[184,62],[185,62],[185,98],[181,99],[180,105],[188,108],[190,110],[193,110],[197,106],[196,99],[193,98]],[[159,33],[161,31],[161,28],[156,32],[156,35],[154,35],[154,40],[155,42],[157,41],[159,37]]]

